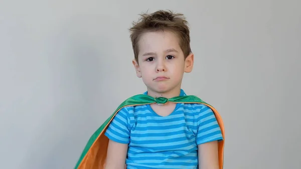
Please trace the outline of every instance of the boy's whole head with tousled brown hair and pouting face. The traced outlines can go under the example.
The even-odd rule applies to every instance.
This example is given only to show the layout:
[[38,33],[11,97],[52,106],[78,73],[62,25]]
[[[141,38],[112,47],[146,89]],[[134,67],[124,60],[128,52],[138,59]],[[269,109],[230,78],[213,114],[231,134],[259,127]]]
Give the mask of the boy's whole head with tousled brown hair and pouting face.
[[191,72],[190,31],[182,14],[157,11],[143,14],[130,28],[133,64],[148,92],[181,88],[184,72]]

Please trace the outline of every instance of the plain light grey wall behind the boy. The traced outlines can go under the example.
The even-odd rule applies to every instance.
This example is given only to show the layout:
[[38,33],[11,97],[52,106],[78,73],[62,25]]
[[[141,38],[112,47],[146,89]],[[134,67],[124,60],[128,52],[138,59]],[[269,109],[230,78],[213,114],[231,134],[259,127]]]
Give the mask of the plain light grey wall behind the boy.
[[[145,91],[128,28],[186,15],[195,54],[183,89],[214,105],[225,169],[301,168],[301,3],[0,1],[1,168],[73,168],[90,135]],[[114,100],[114,102],[110,101]]]

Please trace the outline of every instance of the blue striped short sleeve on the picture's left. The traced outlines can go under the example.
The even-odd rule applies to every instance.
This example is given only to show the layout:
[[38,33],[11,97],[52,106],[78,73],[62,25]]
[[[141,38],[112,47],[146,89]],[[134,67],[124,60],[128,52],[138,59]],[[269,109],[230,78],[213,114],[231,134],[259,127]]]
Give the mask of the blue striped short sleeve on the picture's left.
[[128,119],[129,117],[126,107],[120,109],[107,127],[104,133],[105,136],[115,142],[128,144],[130,135],[128,129]]

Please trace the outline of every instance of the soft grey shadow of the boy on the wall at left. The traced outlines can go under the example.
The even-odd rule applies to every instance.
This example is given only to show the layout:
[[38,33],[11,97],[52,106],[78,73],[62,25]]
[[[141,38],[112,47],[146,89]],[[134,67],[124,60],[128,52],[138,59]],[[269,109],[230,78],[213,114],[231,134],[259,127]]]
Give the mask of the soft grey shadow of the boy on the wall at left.
[[88,18],[73,18],[45,40],[56,100],[52,110],[44,111],[49,113],[37,127],[22,168],[73,168],[99,127],[95,124],[103,120],[99,95],[102,79],[108,79],[104,61],[111,43],[101,34],[96,18]]

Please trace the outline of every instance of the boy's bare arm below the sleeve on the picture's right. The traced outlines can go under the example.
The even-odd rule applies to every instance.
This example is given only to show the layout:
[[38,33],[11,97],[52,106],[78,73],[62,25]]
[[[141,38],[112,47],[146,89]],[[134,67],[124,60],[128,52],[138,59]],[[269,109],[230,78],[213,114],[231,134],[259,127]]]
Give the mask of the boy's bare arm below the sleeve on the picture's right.
[[217,141],[198,145],[199,169],[219,169]]

